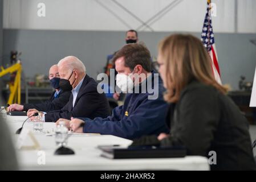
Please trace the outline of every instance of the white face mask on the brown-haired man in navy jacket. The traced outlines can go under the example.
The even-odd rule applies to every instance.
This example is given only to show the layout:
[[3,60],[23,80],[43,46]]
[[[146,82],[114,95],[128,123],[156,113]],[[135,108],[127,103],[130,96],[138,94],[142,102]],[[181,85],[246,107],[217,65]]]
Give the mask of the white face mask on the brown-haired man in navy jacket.
[[119,73],[116,75],[116,85],[122,90],[122,92],[125,93],[133,89],[132,78],[124,73]]

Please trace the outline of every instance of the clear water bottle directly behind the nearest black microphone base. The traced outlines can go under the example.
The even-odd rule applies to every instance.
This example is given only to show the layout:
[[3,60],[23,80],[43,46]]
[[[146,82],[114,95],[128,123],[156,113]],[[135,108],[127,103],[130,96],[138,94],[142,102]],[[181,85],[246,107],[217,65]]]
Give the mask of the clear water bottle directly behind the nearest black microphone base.
[[66,146],[67,145],[67,137],[68,137],[68,129],[65,126],[65,123],[63,121],[60,121],[59,125],[56,127],[56,130],[55,130],[56,145]]

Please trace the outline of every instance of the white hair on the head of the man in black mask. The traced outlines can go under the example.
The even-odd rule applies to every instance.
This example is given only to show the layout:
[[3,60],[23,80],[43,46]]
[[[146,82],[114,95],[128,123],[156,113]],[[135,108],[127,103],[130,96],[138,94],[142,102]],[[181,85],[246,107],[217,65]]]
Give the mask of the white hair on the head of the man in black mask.
[[58,67],[65,64],[65,67],[73,71],[77,69],[80,73],[86,73],[86,67],[84,66],[83,62],[75,56],[67,56],[64,57],[62,60],[59,61]]

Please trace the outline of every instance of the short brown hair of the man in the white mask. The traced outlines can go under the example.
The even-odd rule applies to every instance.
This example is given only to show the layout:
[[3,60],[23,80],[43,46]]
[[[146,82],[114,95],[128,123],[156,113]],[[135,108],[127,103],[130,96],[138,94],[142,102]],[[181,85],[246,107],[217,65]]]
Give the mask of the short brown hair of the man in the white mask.
[[127,44],[116,52],[113,57],[113,63],[120,57],[124,57],[125,67],[129,67],[131,71],[140,64],[145,71],[151,72],[151,55],[147,47],[143,44]]

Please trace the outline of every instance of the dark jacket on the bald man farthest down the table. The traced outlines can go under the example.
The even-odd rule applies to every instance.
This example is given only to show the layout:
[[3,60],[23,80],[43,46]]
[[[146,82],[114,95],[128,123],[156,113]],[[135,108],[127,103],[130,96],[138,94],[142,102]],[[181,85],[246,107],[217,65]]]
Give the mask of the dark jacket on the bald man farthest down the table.
[[70,99],[70,94],[71,92],[63,92],[62,90],[60,90],[59,92],[59,96],[57,98],[54,98],[54,92],[52,92],[50,100],[45,101],[43,103],[40,104],[24,104],[24,109],[25,111],[29,110],[29,109],[36,109],[39,111],[52,111],[52,110],[59,110],[62,109],[62,107],[64,107],[68,100]]

